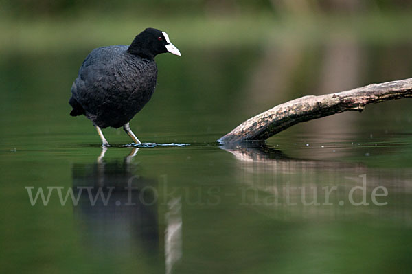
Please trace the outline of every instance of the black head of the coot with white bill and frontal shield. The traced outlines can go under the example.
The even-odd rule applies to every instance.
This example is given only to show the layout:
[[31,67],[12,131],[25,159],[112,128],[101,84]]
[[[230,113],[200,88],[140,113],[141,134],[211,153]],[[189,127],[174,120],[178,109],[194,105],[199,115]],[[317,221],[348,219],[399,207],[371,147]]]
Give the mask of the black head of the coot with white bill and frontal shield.
[[128,47],[128,52],[148,59],[164,52],[181,56],[179,49],[170,42],[168,34],[150,27],[135,37]]

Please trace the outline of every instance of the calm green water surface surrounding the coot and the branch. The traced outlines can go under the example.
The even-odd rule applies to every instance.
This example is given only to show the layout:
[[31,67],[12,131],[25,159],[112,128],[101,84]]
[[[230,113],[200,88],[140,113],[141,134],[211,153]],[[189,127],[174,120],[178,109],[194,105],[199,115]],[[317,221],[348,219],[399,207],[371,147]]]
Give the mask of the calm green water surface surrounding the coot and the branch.
[[[89,49],[3,54],[1,273],[410,273],[409,100],[299,124],[266,144],[215,143],[286,100],[410,77],[410,47],[359,45],[362,62],[347,71],[362,73],[333,78],[333,44],[275,47],[273,63],[260,47],[183,45],[182,58],[158,56],[159,85],[130,126],[141,141],[190,146],[133,150],[107,129],[106,151],[91,122],[69,116]],[[47,187],[47,206],[40,196],[32,205],[29,192],[47,198]],[[61,205],[58,190],[78,203]],[[99,191],[107,203],[92,205]]]

